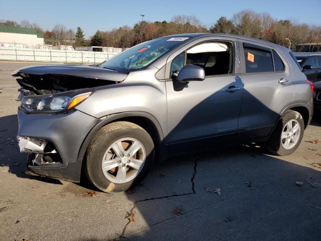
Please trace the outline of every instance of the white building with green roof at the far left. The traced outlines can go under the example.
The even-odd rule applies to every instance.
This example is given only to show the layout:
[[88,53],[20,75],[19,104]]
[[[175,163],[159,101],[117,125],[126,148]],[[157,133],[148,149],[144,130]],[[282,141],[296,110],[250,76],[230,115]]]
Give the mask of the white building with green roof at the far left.
[[0,46],[5,47],[8,43],[35,48],[44,44],[44,36],[33,28],[0,26]]

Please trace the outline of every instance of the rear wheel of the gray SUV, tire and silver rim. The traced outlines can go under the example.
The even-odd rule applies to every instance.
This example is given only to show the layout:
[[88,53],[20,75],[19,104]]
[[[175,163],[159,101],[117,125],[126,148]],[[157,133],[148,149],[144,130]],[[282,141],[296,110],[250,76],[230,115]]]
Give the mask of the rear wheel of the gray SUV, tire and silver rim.
[[292,154],[300,145],[304,133],[302,115],[294,110],[285,111],[270,139],[267,149],[278,156]]

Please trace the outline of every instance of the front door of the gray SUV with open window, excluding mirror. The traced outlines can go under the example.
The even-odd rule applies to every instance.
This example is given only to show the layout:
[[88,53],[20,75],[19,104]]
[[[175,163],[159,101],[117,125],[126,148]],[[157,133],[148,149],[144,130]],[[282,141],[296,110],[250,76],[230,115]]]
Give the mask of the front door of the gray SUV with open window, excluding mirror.
[[[171,63],[173,79],[185,64],[205,69],[203,81],[190,81],[183,88],[166,82],[168,103],[167,142],[173,151],[233,142],[242,98],[242,81],[234,74],[232,42],[200,43],[180,53]],[[191,145],[189,145],[191,144]],[[183,151],[182,150],[182,151]]]

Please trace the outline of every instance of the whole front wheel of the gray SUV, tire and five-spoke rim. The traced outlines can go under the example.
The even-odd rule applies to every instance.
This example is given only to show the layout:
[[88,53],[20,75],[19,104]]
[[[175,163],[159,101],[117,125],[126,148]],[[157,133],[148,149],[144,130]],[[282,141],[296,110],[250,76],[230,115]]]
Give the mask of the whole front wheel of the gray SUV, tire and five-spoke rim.
[[85,171],[90,182],[104,192],[121,192],[140,183],[154,160],[149,134],[130,122],[102,127],[90,142]]

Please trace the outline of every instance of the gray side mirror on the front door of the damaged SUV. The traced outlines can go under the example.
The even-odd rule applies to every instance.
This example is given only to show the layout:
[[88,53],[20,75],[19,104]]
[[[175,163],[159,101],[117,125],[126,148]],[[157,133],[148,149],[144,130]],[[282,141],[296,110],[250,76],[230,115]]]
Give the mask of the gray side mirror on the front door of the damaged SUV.
[[176,80],[183,83],[188,83],[190,81],[202,81],[205,79],[205,71],[202,67],[188,64],[185,65],[179,75],[176,77]]

